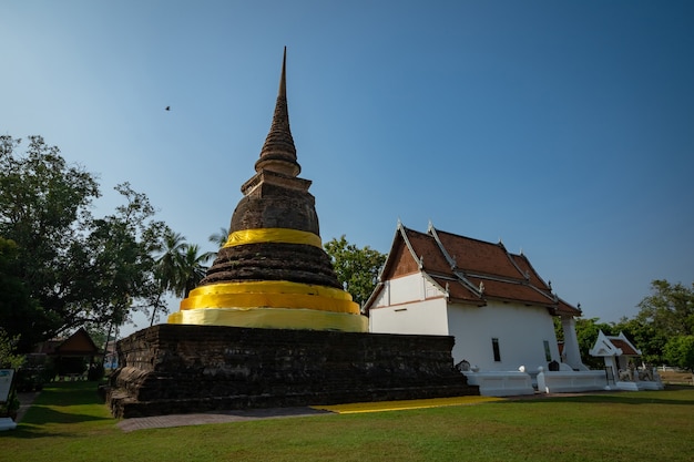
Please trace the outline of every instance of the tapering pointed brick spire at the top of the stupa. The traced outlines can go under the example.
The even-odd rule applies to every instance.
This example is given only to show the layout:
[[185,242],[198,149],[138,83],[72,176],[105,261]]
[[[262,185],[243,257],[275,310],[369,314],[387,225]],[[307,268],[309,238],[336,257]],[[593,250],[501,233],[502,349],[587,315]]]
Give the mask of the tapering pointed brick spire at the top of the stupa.
[[282,75],[275,113],[269,133],[261,150],[261,158],[255,163],[255,171],[272,171],[286,176],[295,177],[302,171],[296,162],[296,147],[289,130],[289,110],[287,107],[287,48],[284,49],[282,60]]

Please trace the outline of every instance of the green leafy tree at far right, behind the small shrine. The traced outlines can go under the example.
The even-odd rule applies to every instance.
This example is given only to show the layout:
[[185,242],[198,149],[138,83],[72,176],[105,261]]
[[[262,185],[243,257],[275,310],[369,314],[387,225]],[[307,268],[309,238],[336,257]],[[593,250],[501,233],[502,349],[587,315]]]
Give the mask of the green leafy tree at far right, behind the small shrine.
[[663,337],[694,335],[694,284],[685,287],[656,279],[639,308],[636,319],[652,325]]

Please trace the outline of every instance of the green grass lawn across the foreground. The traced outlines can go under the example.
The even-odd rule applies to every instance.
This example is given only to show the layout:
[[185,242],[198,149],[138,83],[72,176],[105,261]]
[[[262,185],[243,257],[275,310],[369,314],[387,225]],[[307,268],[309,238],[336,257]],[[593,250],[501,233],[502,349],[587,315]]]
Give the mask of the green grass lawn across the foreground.
[[694,388],[125,433],[93,382],[47,387],[8,461],[691,461]]

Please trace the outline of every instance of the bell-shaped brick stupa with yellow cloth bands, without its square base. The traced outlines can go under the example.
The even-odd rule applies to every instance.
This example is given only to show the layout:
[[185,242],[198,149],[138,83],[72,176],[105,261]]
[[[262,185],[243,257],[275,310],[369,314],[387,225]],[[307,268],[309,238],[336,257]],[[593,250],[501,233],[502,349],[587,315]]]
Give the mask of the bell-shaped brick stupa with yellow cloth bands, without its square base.
[[310,181],[289,130],[286,48],[273,123],[226,244],[169,324],[366,332],[323,249]]

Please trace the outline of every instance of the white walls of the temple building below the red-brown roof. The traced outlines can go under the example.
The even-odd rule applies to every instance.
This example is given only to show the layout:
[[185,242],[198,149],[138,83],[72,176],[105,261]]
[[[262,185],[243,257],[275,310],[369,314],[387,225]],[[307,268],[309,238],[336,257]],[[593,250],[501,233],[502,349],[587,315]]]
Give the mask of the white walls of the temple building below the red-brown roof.
[[[518,371],[524,366],[534,374],[552,360],[561,362],[554,324],[545,308],[448,304],[445,294],[420,274],[386,281],[371,306],[369,331],[455,336],[453,361],[465,359],[480,371]],[[498,339],[499,361],[492,339]]]

